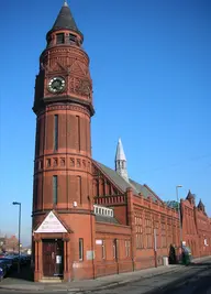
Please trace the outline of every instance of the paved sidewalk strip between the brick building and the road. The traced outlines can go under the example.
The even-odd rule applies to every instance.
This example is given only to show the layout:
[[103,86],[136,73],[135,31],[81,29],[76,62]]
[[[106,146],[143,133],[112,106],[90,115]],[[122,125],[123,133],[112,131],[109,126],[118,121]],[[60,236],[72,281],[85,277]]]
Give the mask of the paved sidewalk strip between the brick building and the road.
[[[193,263],[202,263],[210,260],[211,257],[199,258],[192,260]],[[135,272],[120,273],[114,275],[107,275],[103,277],[98,277],[96,280],[85,280],[85,281],[74,281],[74,282],[63,282],[63,283],[37,283],[32,281],[26,281],[24,279],[11,276],[4,279],[0,283],[1,290],[7,291],[20,291],[20,292],[93,292],[102,291],[106,288],[112,288],[125,284],[130,284],[136,281],[143,281],[158,275],[164,275],[165,273],[179,273],[188,272],[189,266],[184,266],[180,264],[167,265],[144,269]]]

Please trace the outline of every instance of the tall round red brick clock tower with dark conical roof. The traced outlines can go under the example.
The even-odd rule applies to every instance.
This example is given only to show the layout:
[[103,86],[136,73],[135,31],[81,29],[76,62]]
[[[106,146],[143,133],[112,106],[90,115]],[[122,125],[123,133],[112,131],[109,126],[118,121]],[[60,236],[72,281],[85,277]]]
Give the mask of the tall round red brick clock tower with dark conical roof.
[[89,56],[67,1],[46,35],[33,111],[34,280],[95,277]]

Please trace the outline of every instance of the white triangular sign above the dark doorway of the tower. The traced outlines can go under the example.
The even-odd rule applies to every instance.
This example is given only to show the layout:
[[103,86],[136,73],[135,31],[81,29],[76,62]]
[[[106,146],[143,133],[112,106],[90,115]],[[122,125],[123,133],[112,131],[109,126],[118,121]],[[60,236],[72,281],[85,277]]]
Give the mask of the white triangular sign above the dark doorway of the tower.
[[67,232],[63,224],[51,211],[35,232]]

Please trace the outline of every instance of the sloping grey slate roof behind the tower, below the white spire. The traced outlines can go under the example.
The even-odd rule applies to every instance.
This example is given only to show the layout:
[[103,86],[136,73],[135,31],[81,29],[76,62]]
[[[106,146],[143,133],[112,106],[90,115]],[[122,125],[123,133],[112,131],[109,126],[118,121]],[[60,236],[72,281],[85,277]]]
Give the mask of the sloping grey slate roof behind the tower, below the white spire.
[[140,193],[143,195],[144,198],[152,197],[153,202],[162,202],[162,199],[147,186],[141,185],[133,179],[125,181],[122,176],[120,176],[115,171],[111,170],[110,167],[106,166],[104,164],[93,161],[97,167],[99,167],[107,176],[115,184],[116,187],[120,188],[122,193],[125,193],[126,188],[131,187],[133,193],[138,195]]

